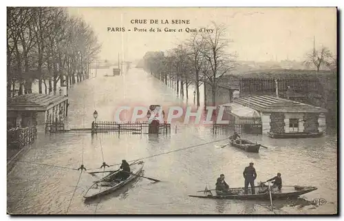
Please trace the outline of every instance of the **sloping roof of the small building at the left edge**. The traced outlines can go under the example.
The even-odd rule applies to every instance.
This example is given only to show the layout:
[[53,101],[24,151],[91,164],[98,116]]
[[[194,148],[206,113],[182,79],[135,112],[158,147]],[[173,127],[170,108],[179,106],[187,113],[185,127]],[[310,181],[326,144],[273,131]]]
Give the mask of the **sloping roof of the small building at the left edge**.
[[15,96],[7,101],[8,110],[45,111],[47,107],[61,103],[68,98],[66,96],[48,94],[23,94]]

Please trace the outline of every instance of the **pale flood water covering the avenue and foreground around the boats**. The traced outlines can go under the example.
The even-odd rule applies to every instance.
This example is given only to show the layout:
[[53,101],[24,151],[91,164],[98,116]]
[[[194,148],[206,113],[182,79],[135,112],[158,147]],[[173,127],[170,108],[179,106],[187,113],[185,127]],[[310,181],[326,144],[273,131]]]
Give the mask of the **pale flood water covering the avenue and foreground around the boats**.
[[[114,120],[119,105],[182,105],[186,101],[143,70],[131,68],[123,76],[105,77],[111,70],[98,70],[97,77],[74,85],[69,94],[69,128],[91,127],[94,109],[97,120]],[[202,92],[202,90],[201,90]],[[189,91],[193,103],[193,89]],[[202,99],[201,99],[202,100]],[[14,214],[324,214],[337,211],[337,138],[272,139],[245,135],[262,145],[259,154],[234,147],[220,148],[225,135],[215,135],[211,127],[182,125],[171,127],[169,135],[98,134],[88,132],[39,134],[38,140],[8,174],[8,212]],[[144,160],[144,176],[100,200],[85,202],[83,193],[92,181],[101,178],[72,170],[81,164],[89,169],[135,160],[184,147]],[[297,200],[269,201],[210,200],[189,198],[189,194],[213,188],[220,173],[230,187],[243,187],[242,172],[255,162],[257,181],[282,174],[283,185],[318,187]],[[29,162],[35,162],[29,163]],[[54,165],[58,167],[48,167]],[[72,169],[70,169],[72,168]],[[111,167],[117,169],[116,167]],[[101,173],[100,173],[101,174]],[[80,180],[78,182],[78,179]],[[76,184],[78,186],[74,193]],[[314,205],[316,198],[327,202]],[[72,201],[71,201],[72,199]],[[70,206],[69,206],[69,202]]]

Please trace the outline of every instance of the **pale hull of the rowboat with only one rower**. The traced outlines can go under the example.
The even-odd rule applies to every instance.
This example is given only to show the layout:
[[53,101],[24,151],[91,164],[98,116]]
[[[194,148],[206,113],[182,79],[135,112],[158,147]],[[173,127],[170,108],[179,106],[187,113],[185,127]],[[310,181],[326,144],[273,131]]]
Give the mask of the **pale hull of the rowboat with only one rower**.
[[[143,162],[140,163],[136,163],[134,165],[131,165],[131,172],[134,174],[138,174],[142,171],[143,169]],[[115,174],[115,173],[114,173]],[[138,176],[135,175],[130,175],[129,178],[127,178],[126,180],[117,182],[114,185],[109,185],[107,187],[102,186],[102,183],[105,182],[95,182],[94,185],[92,185],[91,187],[89,187],[89,189],[87,189],[87,192],[84,195],[85,199],[93,199],[96,197],[100,197],[100,196],[105,196],[109,193],[113,193],[114,191],[120,189],[121,187],[127,185],[129,182],[131,182],[132,180],[134,180],[135,178],[137,178]],[[100,185],[99,185],[100,184]]]

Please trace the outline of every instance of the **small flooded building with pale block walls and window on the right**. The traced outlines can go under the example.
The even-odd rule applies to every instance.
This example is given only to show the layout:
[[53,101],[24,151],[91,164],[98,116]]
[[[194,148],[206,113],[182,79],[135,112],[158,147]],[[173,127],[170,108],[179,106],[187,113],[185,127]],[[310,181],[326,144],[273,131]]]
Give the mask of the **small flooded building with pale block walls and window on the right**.
[[262,133],[272,137],[321,136],[325,131],[326,109],[273,96],[239,98],[235,103],[257,110]]

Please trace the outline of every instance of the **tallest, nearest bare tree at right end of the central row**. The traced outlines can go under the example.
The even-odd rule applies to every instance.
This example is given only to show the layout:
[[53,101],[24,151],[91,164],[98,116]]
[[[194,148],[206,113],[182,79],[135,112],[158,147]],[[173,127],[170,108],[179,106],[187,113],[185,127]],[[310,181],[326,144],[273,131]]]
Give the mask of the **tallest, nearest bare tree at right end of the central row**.
[[211,87],[212,103],[216,103],[217,85],[224,76],[236,67],[235,55],[228,53],[228,45],[231,42],[226,36],[224,25],[213,22],[214,32],[204,32],[204,45],[202,54],[206,61],[203,67],[204,81]]

